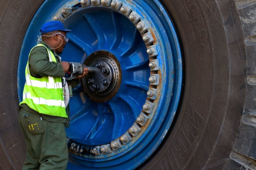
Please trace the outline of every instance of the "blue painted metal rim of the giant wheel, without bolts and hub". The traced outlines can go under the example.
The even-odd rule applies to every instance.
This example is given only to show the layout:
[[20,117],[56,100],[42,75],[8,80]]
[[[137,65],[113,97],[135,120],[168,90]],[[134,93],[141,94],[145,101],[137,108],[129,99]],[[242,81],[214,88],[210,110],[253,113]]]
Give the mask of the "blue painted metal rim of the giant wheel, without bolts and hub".
[[[155,114],[149,114],[150,125],[142,135],[106,156],[80,157],[70,153],[68,169],[133,169],[157,149],[176,113],[182,82],[181,49],[169,15],[158,0],[120,0],[132,6],[148,22],[158,44],[161,88]],[[39,29],[62,7],[77,7],[79,1],[46,0],[28,28],[19,57],[18,84],[25,82],[24,70],[30,49],[36,45]],[[147,48],[142,36],[128,17],[110,7],[80,8],[63,21],[72,32],[62,60],[81,62],[94,51],[106,50],[121,64],[122,83],[118,93],[108,102],[96,103],[78,86],[70,99],[70,128],[67,136],[84,145],[109,143],[125,133],[139,116],[149,89],[150,68]],[[18,87],[19,87],[18,86]],[[18,91],[19,100],[22,90]]]

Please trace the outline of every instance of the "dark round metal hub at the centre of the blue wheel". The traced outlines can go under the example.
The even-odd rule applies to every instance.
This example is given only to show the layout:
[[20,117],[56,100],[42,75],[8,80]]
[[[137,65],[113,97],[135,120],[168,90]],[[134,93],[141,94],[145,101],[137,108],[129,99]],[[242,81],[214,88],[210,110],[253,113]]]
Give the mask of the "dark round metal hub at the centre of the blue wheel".
[[121,68],[114,54],[100,50],[93,52],[85,61],[94,69],[82,80],[82,87],[95,102],[106,102],[118,91],[121,84]]

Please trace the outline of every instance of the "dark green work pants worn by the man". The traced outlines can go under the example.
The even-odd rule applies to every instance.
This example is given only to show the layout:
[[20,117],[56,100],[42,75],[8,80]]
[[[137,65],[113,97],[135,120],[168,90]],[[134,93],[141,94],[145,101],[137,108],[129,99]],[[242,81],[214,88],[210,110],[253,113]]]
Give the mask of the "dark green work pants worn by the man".
[[19,125],[27,143],[23,170],[65,170],[68,145],[64,123],[41,120],[41,116],[21,109]]

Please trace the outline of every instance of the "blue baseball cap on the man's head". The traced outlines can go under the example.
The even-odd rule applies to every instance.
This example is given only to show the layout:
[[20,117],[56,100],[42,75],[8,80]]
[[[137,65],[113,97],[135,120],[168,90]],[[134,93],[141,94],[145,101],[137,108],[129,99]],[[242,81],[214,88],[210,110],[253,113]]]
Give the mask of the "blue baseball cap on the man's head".
[[69,32],[71,30],[65,28],[65,26],[60,21],[49,21],[43,24],[43,26],[40,29],[40,32],[43,33],[49,33],[51,31],[65,31]]

